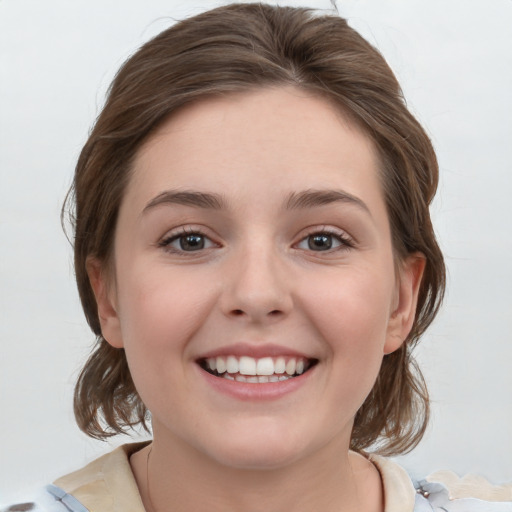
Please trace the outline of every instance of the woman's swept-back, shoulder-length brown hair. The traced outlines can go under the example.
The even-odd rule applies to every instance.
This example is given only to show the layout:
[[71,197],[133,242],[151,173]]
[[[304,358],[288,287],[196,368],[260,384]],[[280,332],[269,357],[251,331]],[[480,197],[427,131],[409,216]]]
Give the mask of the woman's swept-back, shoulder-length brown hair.
[[102,337],[86,271],[90,256],[105,264],[111,259],[134,155],[184,104],[272,85],[321,95],[365,130],[381,158],[397,261],[416,251],[426,257],[412,331],[399,350],[384,357],[377,382],[356,415],[351,447],[403,453],[421,439],[428,394],[411,350],[437,313],[445,284],[428,210],[438,180],[434,150],[383,57],[344,19],[262,4],[208,11],[143,45],[116,75],[81,152],[67,204],[80,299],[97,336],[75,389],[75,416],[88,435],[105,438],[139,423],[147,429],[147,411],[124,350]]

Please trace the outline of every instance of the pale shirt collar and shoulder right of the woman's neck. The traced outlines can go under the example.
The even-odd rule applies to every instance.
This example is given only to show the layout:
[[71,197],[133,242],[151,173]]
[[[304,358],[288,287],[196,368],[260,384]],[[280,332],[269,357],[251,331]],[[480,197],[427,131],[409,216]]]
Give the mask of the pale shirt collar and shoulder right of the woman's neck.
[[492,485],[475,475],[459,478],[451,471],[413,481],[391,459],[369,458],[381,474],[385,512],[512,512],[512,484]]

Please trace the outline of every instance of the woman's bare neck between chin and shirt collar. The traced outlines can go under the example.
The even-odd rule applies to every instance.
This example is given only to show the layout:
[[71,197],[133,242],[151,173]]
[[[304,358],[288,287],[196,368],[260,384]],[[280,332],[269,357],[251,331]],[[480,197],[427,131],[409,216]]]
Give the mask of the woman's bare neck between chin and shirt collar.
[[382,510],[382,495],[368,489],[372,478],[375,483],[370,467],[375,468],[349,454],[348,444],[339,440],[310,457],[266,469],[220,464],[189,445],[169,441],[156,436],[130,461],[148,512]]

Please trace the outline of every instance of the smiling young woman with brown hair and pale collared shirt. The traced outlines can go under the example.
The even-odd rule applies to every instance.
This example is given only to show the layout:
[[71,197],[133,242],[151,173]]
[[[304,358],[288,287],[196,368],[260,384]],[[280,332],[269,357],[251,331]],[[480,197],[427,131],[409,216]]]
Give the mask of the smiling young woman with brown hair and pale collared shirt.
[[153,441],[57,480],[50,508],[511,510],[382,458],[428,421],[410,352],[444,290],[436,186],[396,79],[341,18],[233,5],[141,48],[70,195],[98,337],[75,415],[104,438],[150,411]]

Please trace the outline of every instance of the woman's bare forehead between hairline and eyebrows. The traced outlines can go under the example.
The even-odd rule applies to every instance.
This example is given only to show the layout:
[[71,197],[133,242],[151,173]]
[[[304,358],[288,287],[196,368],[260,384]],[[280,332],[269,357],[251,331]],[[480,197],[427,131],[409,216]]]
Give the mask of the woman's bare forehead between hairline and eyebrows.
[[279,87],[181,108],[138,151],[127,193],[343,187],[366,195],[380,194],[378,181],[374,145],[355,123],[319,96]]

